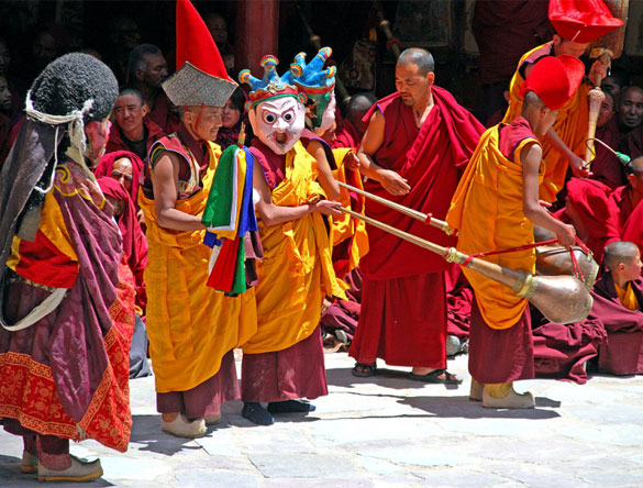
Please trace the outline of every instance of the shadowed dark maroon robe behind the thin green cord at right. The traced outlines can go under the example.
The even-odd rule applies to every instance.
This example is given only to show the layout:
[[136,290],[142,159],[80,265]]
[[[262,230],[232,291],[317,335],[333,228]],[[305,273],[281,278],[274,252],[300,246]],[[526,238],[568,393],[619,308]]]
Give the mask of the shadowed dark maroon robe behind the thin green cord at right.
[[[602,127],[597,127],[596,138],[602,141],[614,151],[619,147],[621,135],[619,133],[619,123],[616,117],[612,117]],[[619,162],[612,152],[608,151],[601,143],[594,145],[596,156],[591,162],[591,179],[596,179],[612,190],[625,185],[625,173],[623,165]]]

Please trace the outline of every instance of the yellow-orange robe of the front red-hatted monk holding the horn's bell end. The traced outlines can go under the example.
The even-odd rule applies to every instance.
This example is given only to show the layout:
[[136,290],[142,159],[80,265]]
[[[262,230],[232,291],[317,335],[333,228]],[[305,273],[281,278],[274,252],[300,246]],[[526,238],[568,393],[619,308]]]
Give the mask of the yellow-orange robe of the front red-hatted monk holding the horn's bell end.
[[[498,147],[500,125],[487,130],[459,181],[446,214],[448,225],[458,230],[457,249],[465,254],[501,251],[532,244],[533,222],[523,212],[523,176],[520,152],[524,138],[515,147],[514,162]],[[540,176],[539,180],[542,178]],[[535,252],[526,249],[486,256],[483,259],[513,270],[535,271]],[[522,317],[526,300],[513,291],[463,266],[476,295],[485,322],[492,329],[508,329]]]

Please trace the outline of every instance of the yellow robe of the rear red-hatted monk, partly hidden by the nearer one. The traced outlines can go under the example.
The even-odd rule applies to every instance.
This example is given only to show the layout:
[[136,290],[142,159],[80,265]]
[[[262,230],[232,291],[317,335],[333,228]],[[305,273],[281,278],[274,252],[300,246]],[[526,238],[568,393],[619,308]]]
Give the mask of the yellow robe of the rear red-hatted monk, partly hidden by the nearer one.
[[[547,43],[547,44],[551,44]],[[525,53],[518,63],[518,67],[535,51],[542,49],[547,44],[534,47]],[[522,97],[519,95],[520,86],[524,78],[517,69],[511,78],[509,108],[505,114],[502,123],[510,124],[520,117],[522,111]],[[584,157],[587,140],[587,125],[589,123],[589,103],[588,93],[589,85],[583,82],[572,99],[563,106],[554,122],[553,129],[569,149],[577,156]],[[568,160],[556,151],[548,140],[541,142],[543,147],[544,179],[540,187],[540,198],[552,202],[556,200],[556,193],[565,186],[565,175],[567,174]]]

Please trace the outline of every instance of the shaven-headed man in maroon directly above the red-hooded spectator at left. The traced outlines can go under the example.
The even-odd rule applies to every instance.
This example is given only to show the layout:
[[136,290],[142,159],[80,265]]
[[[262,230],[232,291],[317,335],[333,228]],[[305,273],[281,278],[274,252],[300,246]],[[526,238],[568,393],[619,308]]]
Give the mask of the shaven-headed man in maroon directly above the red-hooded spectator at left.
[[152,144],[165,136],[155,122],[145,119],[147,107],[140,91],[125,88],[112,109],[112,130],[106,153],[131,151],[144,160]]

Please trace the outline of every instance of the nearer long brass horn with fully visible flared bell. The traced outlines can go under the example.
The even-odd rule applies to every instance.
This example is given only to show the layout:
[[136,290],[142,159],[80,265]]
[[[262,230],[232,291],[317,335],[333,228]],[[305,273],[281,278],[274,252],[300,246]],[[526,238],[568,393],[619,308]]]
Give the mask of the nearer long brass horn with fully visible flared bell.
[[591,295],[574,276],[534,276],[531,273],[514,271],[478,258],[467,262],[469,256],[456,251],[455,247],[443,247],[343,207],[340,207],[340,210],[404,241],[440,254],[450,263],[466,266],[511,288],[518,297],[529,300],[551,322],[579,322],[587,318],[591,310]]

